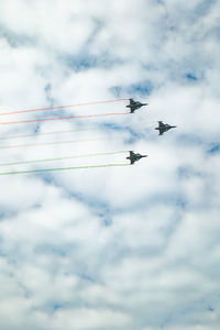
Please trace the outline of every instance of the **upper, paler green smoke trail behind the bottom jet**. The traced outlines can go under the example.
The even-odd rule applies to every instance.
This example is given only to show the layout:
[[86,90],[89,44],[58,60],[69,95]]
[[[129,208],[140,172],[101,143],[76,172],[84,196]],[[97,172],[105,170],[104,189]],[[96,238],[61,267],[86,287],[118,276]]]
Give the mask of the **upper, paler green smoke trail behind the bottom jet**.
[[97,153],[97,154],[87,154],[87,155],[65,156],[65,157],[57,157],[57,158],[43,158],[43,160],[10,162],[10,163],[0,163],[0,166],[12,166],[12,165],[43,163],[43,162],[53,162],[53,161],[63,161],[63,160],[73,160],[73,158],[82,158],[82,157],[92,157],[92,156],[102,156],[102,155],[125,154],[125,153],[128,153],[128,152],[127,151],[119,151],[119,152],[112,152],[112,153]]

